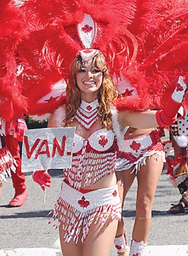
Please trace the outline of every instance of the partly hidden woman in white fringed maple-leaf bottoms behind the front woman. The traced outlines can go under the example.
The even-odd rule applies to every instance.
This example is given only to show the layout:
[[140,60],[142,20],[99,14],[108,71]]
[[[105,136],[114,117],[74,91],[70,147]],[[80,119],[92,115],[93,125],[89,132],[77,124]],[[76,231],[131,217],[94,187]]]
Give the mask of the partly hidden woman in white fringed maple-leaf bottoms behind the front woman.
[[[130,255],[140,253],[146,246],[152,219],[152,204],[164,162],[164,150],[156,129],[135,129],[127,127],[122,134],[122,151],[116,162],[117,179],[123,180],[123,202],[137,178],[136,219],[132,230]],[[123,218],[118,224],[114,239],[118,255],[129,255]],[[141,255],[141,254],[139,254]]]

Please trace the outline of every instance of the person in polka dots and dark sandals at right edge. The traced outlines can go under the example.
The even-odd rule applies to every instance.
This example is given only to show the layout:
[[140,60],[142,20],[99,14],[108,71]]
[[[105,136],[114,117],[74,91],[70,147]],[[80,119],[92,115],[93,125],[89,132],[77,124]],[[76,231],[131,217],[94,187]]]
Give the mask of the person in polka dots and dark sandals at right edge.
[[171,125],[171,140],[175,151],[175,159],[168,157],[168,174],[173,184],[179,189],[182,196],[178,204],[169,209],[171,214],[178,214],[188,210],[188,109]]

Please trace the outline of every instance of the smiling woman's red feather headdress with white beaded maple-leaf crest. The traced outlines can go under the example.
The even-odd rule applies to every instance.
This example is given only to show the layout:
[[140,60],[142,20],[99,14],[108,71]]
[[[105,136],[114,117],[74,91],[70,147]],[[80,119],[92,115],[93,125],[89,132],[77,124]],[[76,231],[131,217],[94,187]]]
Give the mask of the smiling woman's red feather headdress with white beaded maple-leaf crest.
[[127,30],[136,10],[134,0],[31,0],[22,8],[32,29],[45,31],[42,38],[33,33],[30,41],[42,40],[33,49],[35,54],[42,50],[40,65],[49,63],[66,75],[77,54],[88,61],[100,52],[111,74],[118,74],[136,55],[137,40]]

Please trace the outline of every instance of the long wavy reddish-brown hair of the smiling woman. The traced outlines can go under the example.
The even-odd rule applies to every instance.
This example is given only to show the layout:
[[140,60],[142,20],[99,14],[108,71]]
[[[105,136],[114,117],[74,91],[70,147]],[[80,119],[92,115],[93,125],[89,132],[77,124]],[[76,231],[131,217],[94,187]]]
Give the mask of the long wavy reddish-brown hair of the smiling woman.
[[[116,87],[109,74],[109,70],[106,66],[106,61],[101,54],[97,54],[92,60],[93,67],[100,70],[103,74],[102,84],[97,94],[98,99],[98,118],[102,123],[102,127],[111,129],[112,127],[112,114],[111,114],[111,102],[118,96]],[[65,126],[70,126],[74,121],[74,116],[81,104],[81,93],[77,86],[76,74],[81,70],[82,58],[77,56],[70,65],[71,77],[67,85],[67,104],[65,106]]]

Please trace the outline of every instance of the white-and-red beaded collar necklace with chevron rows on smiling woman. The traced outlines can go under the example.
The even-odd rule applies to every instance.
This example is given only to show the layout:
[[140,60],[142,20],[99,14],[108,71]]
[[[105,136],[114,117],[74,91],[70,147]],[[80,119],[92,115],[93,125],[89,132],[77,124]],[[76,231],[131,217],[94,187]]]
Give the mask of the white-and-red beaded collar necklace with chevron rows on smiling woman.
[[76,111],[75,120],[82,125],[86,131],[97,122],[98,117],[98,99],[93,102],[81,101],[81,106]]

